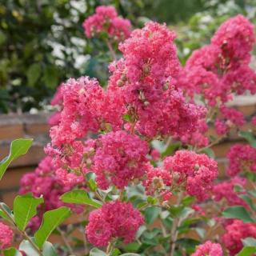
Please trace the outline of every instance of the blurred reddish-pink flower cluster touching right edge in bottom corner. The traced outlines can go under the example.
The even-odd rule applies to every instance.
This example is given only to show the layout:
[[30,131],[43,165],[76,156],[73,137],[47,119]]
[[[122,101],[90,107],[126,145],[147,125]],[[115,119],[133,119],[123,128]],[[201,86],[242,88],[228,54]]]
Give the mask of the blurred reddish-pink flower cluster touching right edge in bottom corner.
[[242,239],[256,238],[256,225],[244,223],[241,220],[234,220],[225,227],[226,233],[222,236],[222,242],[229,250],[230,256],[234,256],[242,250]]

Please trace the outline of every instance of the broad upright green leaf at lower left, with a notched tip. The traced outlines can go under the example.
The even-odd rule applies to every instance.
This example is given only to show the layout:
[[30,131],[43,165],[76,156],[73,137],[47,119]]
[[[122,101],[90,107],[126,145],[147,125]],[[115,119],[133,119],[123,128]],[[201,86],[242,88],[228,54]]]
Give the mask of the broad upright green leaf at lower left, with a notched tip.
[[14,199],[14,221],[19,230],[25,230],[30,219],[37,214],[37,207],[43,198],[34,198],[32,194],[18,195]]

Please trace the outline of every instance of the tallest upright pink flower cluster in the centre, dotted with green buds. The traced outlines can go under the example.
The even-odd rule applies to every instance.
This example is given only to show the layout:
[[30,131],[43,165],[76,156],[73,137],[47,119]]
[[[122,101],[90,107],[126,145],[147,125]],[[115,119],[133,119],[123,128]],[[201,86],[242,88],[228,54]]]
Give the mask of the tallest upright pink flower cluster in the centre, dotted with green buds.
[[122,98],[133,122],[126,129],[149,138],[190,133],[206,114],[203,107],[187,103],[177,88],[174,38],[166,25],[148,22],[119,45],[123,58],[110,65],[109,90]]

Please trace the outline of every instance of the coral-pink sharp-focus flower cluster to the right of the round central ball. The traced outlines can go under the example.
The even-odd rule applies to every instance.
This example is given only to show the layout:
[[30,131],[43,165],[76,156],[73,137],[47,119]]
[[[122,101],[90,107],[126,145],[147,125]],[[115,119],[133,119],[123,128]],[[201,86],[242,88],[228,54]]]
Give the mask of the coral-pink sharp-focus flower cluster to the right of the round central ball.
[[209,197],[213,181],[218,175],[218,164],[206,154],[178,150],[174,156],[164,160],[166,170],[170,170],[173,180],[185,185],[188,194],[199,201]]

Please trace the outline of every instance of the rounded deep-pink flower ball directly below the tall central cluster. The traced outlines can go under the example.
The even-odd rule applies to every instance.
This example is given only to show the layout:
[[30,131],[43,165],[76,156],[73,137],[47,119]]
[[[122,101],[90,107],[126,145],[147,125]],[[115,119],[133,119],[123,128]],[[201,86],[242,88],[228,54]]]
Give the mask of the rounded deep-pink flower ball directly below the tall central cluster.
[[145,174],[148,146],[137,135],[119,130],[100,136],[96,144],[92,170],[100,188],[123,188]]

